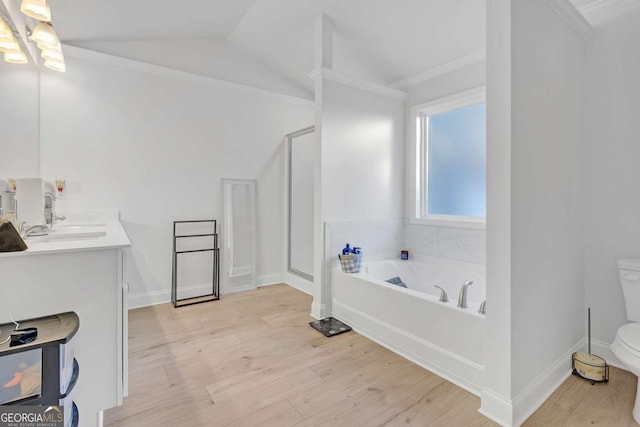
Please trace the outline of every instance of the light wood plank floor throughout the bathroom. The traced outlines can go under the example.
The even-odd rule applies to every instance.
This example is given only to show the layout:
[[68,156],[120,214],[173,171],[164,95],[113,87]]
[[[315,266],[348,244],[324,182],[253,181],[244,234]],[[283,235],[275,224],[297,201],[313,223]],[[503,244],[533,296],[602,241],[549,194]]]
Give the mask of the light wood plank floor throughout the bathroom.
[[[129,397],[106,426],[495,426],[480,400],[355,332],[309,327],[286,285],[129,313]],[[626,374],[626,375],[625,375]],[[527,426],[635,425],[635,378],[569,378]]]

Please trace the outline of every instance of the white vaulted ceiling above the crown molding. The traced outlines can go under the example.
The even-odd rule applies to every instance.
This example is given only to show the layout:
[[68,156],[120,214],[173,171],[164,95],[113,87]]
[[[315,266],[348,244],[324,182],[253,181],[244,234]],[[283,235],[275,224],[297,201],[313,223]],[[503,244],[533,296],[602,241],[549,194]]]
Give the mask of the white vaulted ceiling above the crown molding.
[[374,83],[485,48],[485,0],[49,2],[65,44],[309,99],[319,13],[334,25],[334,68]]

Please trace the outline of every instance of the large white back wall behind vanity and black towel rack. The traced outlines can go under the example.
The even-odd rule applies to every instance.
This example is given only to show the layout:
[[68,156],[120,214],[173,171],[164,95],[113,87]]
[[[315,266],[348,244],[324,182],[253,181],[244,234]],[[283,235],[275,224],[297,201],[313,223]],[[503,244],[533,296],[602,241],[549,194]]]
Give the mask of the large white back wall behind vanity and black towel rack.
[[134,298],[168,298],[171,222],[220,219],[221,178],[257,179],[258,280],[282,273],[282,140],[310,104],[67,62],[42,75],[42,176],[67,180],[59,211],[120,210]]

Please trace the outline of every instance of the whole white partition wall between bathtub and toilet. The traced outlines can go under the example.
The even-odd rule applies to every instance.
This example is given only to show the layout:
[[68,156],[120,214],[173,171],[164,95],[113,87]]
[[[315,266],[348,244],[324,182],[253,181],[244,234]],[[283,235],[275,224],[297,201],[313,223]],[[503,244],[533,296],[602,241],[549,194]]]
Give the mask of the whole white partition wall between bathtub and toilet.
[[549,2],[496,0],[488,13],[482,412],[519,425],[569,375],[586,332],[584,41]]

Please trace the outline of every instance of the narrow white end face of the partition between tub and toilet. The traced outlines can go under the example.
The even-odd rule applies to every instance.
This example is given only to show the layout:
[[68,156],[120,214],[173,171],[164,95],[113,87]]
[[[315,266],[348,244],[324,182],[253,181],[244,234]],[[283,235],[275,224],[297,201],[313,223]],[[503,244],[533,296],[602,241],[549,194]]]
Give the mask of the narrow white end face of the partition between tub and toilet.
[[503,425],[511,403],[511,0],[487,0],[487,313],[480,412]]

